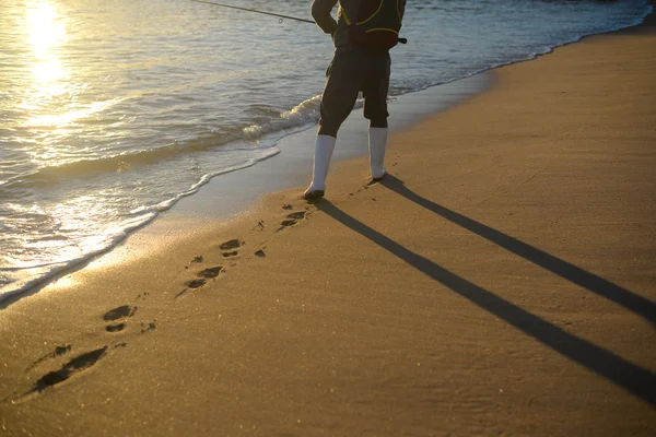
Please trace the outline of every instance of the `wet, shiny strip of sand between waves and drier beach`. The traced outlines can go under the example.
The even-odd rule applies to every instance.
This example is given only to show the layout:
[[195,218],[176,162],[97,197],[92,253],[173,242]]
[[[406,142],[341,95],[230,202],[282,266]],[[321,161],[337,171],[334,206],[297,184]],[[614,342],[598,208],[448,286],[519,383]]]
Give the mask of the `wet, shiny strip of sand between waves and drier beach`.
[[[620,29],[607,31],[600,34],[584,35],[577,40],[555,46],[551,50],[537,54],[534,58],[518,60],[509,63],[504,63],[479,72],[472,73],[471,75],[448,81],[438,85],[429,86],[427,88],[414,91],[407,94],[395,96],[390,101],[390,106],[398,106],[398,109],[394,109],[394,115],[390,117],[390,135],[395,132],[408,129],[410,126],[420,122],[422,119],[430,117],[431,115],[448,110],[472,97],[478,93],[484,93],[492,86],[494,82],[494,71],[516,63],[534,61],[544,55],[550,55],[553,50],[565,47],[571,44],[576,44],[585,38],[594,37],[598,35],[613,34],[618,32],[635,32],[637,28],[644,26],[653,26],[656,22],[654,8],[656,2],[649,0],[653,11],[647,14],[642,23],[633,26],[623,27]],[[400,104],[397,101],[401,101]],[[436,99],[437,102],[427,104],[427,101]],[[421,108],[417,110],[417,108]],[[358,121],[358,118],[363,119],[362,108],[354,109],[349,118],[345,120],[343,128],[340,130],[340,138],[338,139],[338,146],[333,156],[332,162],[339,162],[343,160],[351,160],[355,157],[365,156],[366,150],[366,132],[363,132],[362,125]],[[236,172],[229,172],[227,174],[219,175],[211,178],[208,182],[201,185],[198,191],[192,192],[189,196],[181,196],[169,209],[161,211],[156,216],[149,220],[148,222],[137,226],[134,229],[126,232],[126,235],[118,238],[110,247],[99,250],[93,255],[85,255],[81,260],[73,263],[69,263],[57,269],[55,272],[48,273],[46,276],[36,279],[30,282],[26,288],[23,287],[19,291],[9,292],[0,296],[0,309],[5,308],[12,303],[20,300],[21,298],[32,296],[38,293],[40,290],[47,287],[49,284],[56,282],[58,279],[66,276],[70,273],[83,269],[91,262],[94,262],[99,257],[104,257],[114,250],[134,252],[139,249],[129,247],[125,248],[125,245],[130,245],[130,239],[138,233],[148,233],[152,235],[179,235],[184,229],[188,227],[187,223],[184,223],[180,227],[178,223],[188,218],[197,218],[206,221],[208,225],[216,220],[230,220],[238,215],[239,213],[253,208],[262,196],[273,193],[276,191],[285,190],[294,186],[303,184],[304,179],[307,179],[306,172],[304,169],[311,168],[312,166],[312,147],[307,144],[314,144],[314,131],[313,127],[301,129],[285,134],[284,132],[277,132],[272,135],[266,135],[262,141],[274,141],[277,146],[281,149],[281,152],[290,153],[293,165],[281,163],[280,161],[273,161],[280,153],[274,156],[265,160],[263,162],[257,163],[251,167],[265,166],[266,168],[251,168],[246,167]],[[312,134],[308,134],[312,132]],[[278,138],[277,140],[274,138]],[[355,144],[355,147],[344,147],[347,144]],[[288,149],[289,147],[289,149]],[[284,156],[288,158],[289,156]],[[286,172],[292,176],[281,177],[280,174]],[[262,178],[261,175],[266,175]],[[236,177],[235,177],[236,176]],[[254,178],[258,180],[253,182]],[[219,181],[241,187],[243,191],[238,197],[224,192],[223,187],[216,187]],[[225,184],[224,184],[225,185]],[[199,194],[202,190],[202,197]],[[220,200],[216,204],[216,200]],[[202,223],[195,224],[194,227],[202,225]],[[156,226],[156,227],[153,227]],[[114,259],[117,257],[113,257]],[[122,257],[121,257],[122,258]]]

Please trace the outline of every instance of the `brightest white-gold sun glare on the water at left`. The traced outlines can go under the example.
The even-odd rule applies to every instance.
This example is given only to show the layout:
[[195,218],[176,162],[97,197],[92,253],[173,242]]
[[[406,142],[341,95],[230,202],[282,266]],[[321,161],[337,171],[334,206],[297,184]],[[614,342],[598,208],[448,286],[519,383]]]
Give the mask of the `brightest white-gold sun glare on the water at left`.
[[[58,166],[71,162],[68,138],[86,127],[75,121],[103,113],[109,106],[120,102],[116,97],[107,101],[90,101],[83,95],[87,84],[81,73],[89,73],[79,54],[68,46],[67,25],[74,26],[74,17],[67,16],[54,1],[36,0],[27,2],[21,16],[24,31],[23,44],[27,48],[25,81],[22,83],[23,96],[19,104],[25,115],[24,127],[39,135],[36,146],[26,150],[37,165]],[[74,29],[74,28],[73,28]],[[74,33],[71,34],[74,37]],[[81,70],[82,68],[82,70]],[[75,161],[75,157],[72,158]],[[58,229],[65,234],[75,234],[75,229],[89,227],[89,223],[98,222],[110,214],[109,206],[103,204],[101,197],[81,196],[63,200],[43,215],[58,222]],[[48,262],[67,262],[83,253],[94,252],[107,246],[110,232],[95,236],[67,238],[46,238],[26,241],[23,246],[31,252],[46,257]],[[38,260],[43,262],[44,259]],[[28,267],[34,260],[24,261]],[[20,262],[14,262],[21,265]]]

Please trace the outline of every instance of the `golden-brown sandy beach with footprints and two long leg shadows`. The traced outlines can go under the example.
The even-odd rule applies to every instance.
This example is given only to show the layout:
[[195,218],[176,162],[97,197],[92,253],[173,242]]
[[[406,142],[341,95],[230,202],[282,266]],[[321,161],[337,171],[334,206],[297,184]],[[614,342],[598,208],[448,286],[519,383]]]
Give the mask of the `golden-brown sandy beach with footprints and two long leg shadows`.
[[501,68],[396,134],[382,184],[340,162],[321,202],[138,233],[150,252],[5,304],[0,429],[654,435],[654,47]]

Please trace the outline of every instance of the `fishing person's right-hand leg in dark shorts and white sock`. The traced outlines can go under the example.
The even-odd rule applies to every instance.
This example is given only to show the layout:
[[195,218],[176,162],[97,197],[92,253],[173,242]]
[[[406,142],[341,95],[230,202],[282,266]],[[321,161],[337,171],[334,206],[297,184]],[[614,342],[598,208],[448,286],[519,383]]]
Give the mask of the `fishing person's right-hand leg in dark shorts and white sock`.
[[373,54],[364,84],[364,117],[370,120],[370,168],[373,180],[383,178],[387,146],[387,92],[390,72],[389,54]]

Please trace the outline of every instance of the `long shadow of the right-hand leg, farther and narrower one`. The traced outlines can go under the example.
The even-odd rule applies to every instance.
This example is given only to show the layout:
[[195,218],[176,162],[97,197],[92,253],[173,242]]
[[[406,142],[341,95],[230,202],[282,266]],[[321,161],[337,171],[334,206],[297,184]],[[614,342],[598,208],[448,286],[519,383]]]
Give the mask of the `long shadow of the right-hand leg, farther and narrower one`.
[[555,273],[576,285],[579,285],[601,297],[607,298],[608,300],[614,302],[630,311],[644,317],[652,323],[656,323],[656,304],[646,299],[645,297],[613,284],[612,282],[606,281],[605,279],[587,272],[567,261],[563,261],[560,258],[537,249],[524,241],[518,240],[517,238],[493,229],[490,226],[485,226],[484,224],[466,217],[462,214],[458,214],[457,212],[432,202],[426,198],[422,198],[421,196],[408,189],[408,187],[403,185],[402,180],[391,175],[387,175],[385,179],[383,179],[382,185],[405,197],[406,199],[413,201],[418,205],[423,206],[426,210],[448,220],[449,222],[453,222],[458,226],[461,226],[465,229],[503,247],[504,249],[532,262],[534,264],[549,270],[550,272]]

